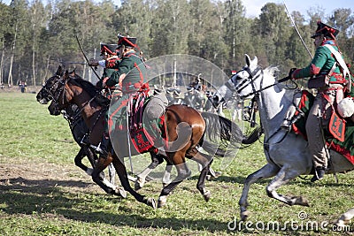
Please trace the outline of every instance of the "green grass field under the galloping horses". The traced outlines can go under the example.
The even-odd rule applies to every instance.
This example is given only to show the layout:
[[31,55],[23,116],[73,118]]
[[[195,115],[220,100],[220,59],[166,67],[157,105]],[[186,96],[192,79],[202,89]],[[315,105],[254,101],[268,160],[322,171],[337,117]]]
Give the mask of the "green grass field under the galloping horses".
[[[0,130],[1,235],[342,235],[332,223],[353,207],[353,172],[338,174],[339,183],[327,176],[313,184],[304,176],[281,187],[281,194],[304,195],[309,208],[268,198],[266,179],[251,186],[250,221],[240,225],[242,183],[266,164],[258,141],[206,183],[210,202],[204,202],[193,177],[173,191],[165,208],[151,209],[131,195],[122,200],[105,194],[74,166],[79,147],[67,122],[50,116],[35,94],[0,92]],[[153,181],[140,192],[158,199],[160,190]],[[273,223],[279,228],[266,228]]]

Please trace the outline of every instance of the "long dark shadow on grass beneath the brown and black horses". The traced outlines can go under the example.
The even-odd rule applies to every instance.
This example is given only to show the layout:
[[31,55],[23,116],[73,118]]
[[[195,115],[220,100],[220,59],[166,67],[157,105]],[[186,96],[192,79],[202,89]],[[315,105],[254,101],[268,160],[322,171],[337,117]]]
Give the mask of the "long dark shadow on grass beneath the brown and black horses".
[[[129,214],[133,209],[129,208],[135,201],[131,195],[128,199],[119,199],[116,196],[102,194],[92,197],[89,194],[75,194],[67,192],[61,187],[88,187],[90,184],[81,181],[58,180],[29,180],[9,179],[11,185],[0,185],[0,209],[8,215],[36,215],[50,216],[55,212],[56,216],[87,223],[104,223],[115,226],[130,226],[137,228],[166,228],[179,231],[186,225],[192,230],[207,230],[211,232],[227,230],[227,224],[214,219],[200,218],[196,220],[177,217],[143,217],[137,214]],[[0,179],[4,184],[4,179]],[[94,194],[95,195],[95,194]],[[101,195],[101,194],[100,194]],[[117,213],[104,212],[104,202],[119,203]],[[135,204],[142,204],[134,202]],[[146,211],[149,208],[144,204],[138,209]],[[134,208],[136,211],[136,208]],[[154,210],[154,209],[151,209]],[[163,209],[157,209],[163,210]],[[143,214],[142,214],[143,215]],[[152,214],[154,215],[154,214]]]

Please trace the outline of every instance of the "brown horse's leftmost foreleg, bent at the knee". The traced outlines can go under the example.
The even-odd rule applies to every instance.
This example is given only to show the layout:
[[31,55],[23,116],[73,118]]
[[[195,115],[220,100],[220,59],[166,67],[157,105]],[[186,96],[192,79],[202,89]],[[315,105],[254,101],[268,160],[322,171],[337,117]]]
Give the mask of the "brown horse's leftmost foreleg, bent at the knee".
[[104,169],[112,163],[112,156],[109,155],[107,158],[98,158],[98,161],[96,163],[96,166],[94,170],[92,171],[91,177],[94,182],[104,189],[104,192],[107,194],[115,194],[119,195],[123,198],[127,197],[127,193],[121,189],[120,187],[117,189],[116,186],[112,185],[107,179],[102,179],[102,176],[100,175],[101,172],[104,171]]

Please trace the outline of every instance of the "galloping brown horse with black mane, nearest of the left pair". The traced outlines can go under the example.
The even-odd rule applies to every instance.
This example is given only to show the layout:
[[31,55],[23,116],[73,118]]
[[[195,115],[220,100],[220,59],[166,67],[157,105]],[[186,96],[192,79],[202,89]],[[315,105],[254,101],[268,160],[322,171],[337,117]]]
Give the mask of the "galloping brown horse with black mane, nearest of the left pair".
[[[61,69],[60,66],[59,69]],[[98,95],[96,88],[91,83],[82,80],[74,73],[70,74],[69,72],[65,72],[63,76],[58,76],[58,74],[60,73],[57,72],[57,75],[47,80],[44,85],[44,88],[49,91],[49,94],[52,97],[52,103],[49,107],[50,114],[58,114],[60,110],[64,110],[70,104],[76,104],[81,110],[82,117],[87,126],[89,126],[89,142],[98,145],[104,128],[104,104],[100,101],[100,95]],[[221,131],[219,130],[221,140],[233,140],[241,143],[243,137],[238,126],[230,123],[230,121],[225,118],[218,117],[218,119],[221,125]],[[169,106],[165,110],[165,123],[167,126],[167,139],[170,142],[178,140],[179,134],[183,134],[179,132],[179,129],[181,129],[181,126],[179,126],[180,124],[188,124],[191,135],[188,137],[189,140],[183,142],[183,147],[170,149],[170,151],[167,149],[165,151],[163,157],[167,163],[174,164],[177,169],[177,177],[173,182],[163,188],[158,199],[158,207],[162,207],[165,204],[167,195],[171,193],[174,187],[181,183],[183,179],[190,176],[191,172],[186,164],[186,157],[193,159],[203,166],[196,187],[200,193],[203,194],[204,200],[208,201],[210,198],[210,192],[205,190],[204,181],[206,174],[210,169],[210,165],[212,164],[212,155],[223,156],[225,155],[225,152],[219,148],[215,148],[215,144],[211,144],[204,139],[206,128],[205,121],[202,114],[197,110],[184,105]],[[213,134],[215,135],[215,133]],[[124,139],[126,141],[124,141]],[[106,159],[99,158],[92,173],[92,179],[96,184],[102,187],[106,193],[114,194],[115,189],[107,187],[98,178],[98,174],[112,162],[119,175],[119,180],[122,186],[132,194],[138,202],[143,202],[155,208],[156,202],[154,199],[146,198],[145,196],[136,193],[128,183],[126,166],[124,165],[124,161],[119,158],[121,156],[129,156],[129,150],[127,149],[126,144],[127,133],[122,137],[119,137],[119,143],[116,143],[119,148],[114,146],[117,154],[114,153],[113,155],[109,155]],[[203,147],[208,154],[199,152],[197,149],[198,146]],[[139,154],[136,152],[135,148],[132,148],[130,151],[131,156]]]

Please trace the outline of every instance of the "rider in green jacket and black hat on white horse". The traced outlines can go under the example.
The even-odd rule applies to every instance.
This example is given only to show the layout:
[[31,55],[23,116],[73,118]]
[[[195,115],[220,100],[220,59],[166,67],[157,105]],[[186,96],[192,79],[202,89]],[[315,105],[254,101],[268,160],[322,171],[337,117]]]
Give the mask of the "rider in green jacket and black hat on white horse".
[[[327,170],[328,157],[322,127],[328,126],[334,112],[333,106],[342,100],[343,93],[350,90],[350,83],[346,80],[349,70],[335,42],[339,31],[320,21],[317,24],[317,30],[312,35],[316,52],[311,64],[303,69],[290,71],[291,79],[311,77],[308,87],[318,89],[306,121],[306,133],[311,133],[308,135],[308,143],[315,167],[312,182],[323,179]],[[283,126],[290,125],[287,121],[289,118],[286,118]]]

